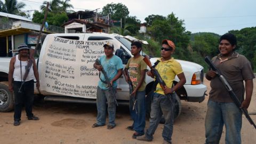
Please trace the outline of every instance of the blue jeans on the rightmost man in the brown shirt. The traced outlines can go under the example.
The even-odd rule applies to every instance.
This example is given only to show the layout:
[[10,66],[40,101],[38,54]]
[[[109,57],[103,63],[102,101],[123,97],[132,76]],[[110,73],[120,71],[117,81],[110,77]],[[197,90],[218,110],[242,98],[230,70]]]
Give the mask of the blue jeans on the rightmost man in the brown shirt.
[[233,102],[209,100],[205,117],[205,143],[219,143],[223,124],[226,144],[241,143],[242,112]]

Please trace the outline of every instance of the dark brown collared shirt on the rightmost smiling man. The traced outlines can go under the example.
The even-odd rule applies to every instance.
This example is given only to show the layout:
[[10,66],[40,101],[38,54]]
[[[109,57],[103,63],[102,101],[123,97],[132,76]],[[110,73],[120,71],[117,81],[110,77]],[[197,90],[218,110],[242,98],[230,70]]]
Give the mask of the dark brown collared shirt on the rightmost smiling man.
[[[254,74],[251,68],[251,63],[244,55],[234,52],[227,60],[221,62],[221,54],[212,58],[213,64],[221,71],[229,85],[237,95],[240,101],[244,100],[244,80],[253,79]],[[219,77],[211,79],[210,98],[217,102],[234,102],[226,87],[222,84]]]

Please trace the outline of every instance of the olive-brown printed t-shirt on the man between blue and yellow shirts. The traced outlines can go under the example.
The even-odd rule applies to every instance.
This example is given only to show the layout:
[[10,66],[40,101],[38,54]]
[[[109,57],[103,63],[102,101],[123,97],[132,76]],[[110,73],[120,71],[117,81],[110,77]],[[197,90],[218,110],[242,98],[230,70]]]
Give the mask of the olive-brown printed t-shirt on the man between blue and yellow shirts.
[[[125,68],[128,69],[128,73],[129,73],[129,76],[130,76],[130,79],[132,81],[132,85],[133,87],[137,87],[139,81],[140,81],[140,78],[141,78],[141,74],[140,74],[140,71],[141,70],[145,70],[147,69],[147,64],[146,62],[143,60],[143,56],[140,55],[139,58],[131,58],[129,59],[129,61],[127,62]],[[144,91],[146,88],[146,82],[145,82],[145,78],[140,86],[140,88],[138,89],[138,91]]]

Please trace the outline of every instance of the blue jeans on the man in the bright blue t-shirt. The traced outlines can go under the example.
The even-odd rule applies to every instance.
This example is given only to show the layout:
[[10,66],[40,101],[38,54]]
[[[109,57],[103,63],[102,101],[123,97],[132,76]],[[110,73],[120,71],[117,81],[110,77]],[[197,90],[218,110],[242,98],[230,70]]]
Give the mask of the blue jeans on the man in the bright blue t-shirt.
[[[116,93],[116,90],[114,90]],[[107,104],[108,102],[108,123],[109,125],[116,126],[116,102],[114,95],[111,93],[110,89],[102,90],[98,86],[97,88],[97,124],[105,125],[106,123],[106,113],[107,113]]]

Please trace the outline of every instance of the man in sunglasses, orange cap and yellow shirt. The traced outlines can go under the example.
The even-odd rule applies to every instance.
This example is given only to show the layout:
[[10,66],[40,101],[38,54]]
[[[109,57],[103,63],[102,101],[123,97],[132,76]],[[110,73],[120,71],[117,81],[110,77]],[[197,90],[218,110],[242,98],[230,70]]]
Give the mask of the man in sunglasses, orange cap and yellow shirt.
[[[162,115],[164,115],[165,124],[162,133],[162,137],[164,138],[163,143],[172,143],[171,137],[174,121],[173,108],[175,101],[175,95],[173,93],[186,83],[186,78],[180,63],[171,57],[174,50],[175,45],[172,41],[167,39],[162,41],[162,58],[158,59],[159,62],[155,68],[162,77],[166,86],[162,89],[162,87],[157,84],[156,90],[154,91],[153,101],[151,103],[149,127],[145,135],[137,137],[137,140],[152,141],[153,134],[156,131],[158,123],[160,122]],[[154,78],[154,74],[151,71],[148,71],[147,75]],[[172,87],[176,75],[180,81]],[[171,97],[166,94],[170,94]]]

